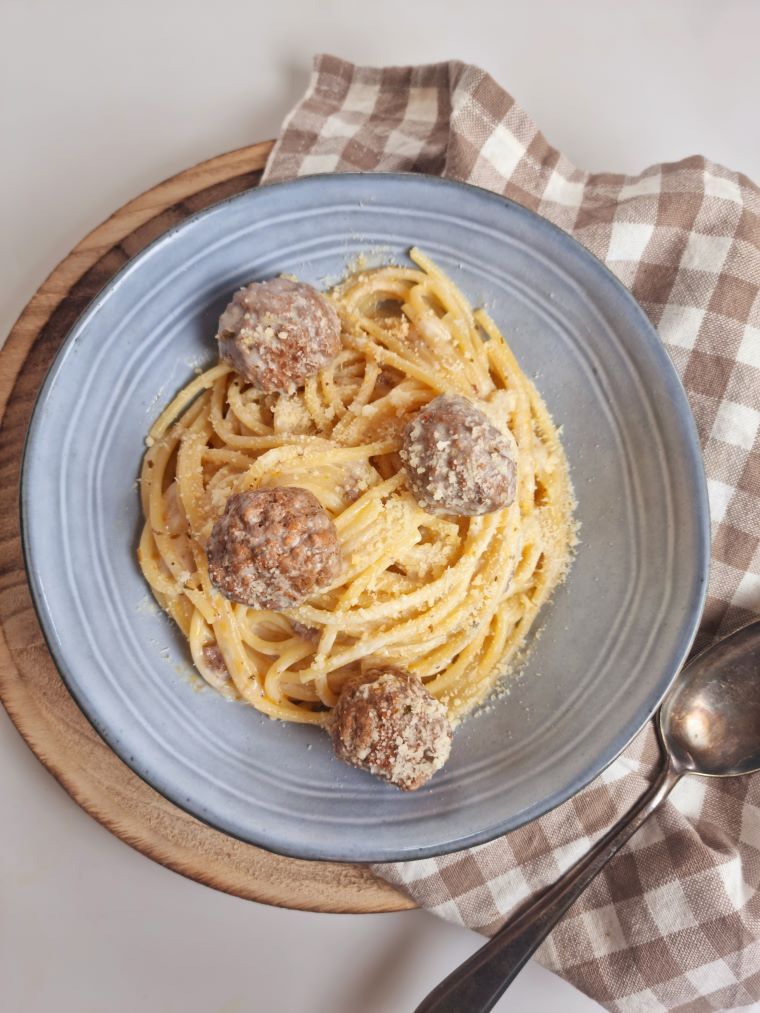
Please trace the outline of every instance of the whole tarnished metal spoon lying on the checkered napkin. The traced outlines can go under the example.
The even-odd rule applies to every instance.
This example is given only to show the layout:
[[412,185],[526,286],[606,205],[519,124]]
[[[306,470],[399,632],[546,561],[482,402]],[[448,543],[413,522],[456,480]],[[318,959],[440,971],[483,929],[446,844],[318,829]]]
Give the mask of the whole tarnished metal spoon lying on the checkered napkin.
[[665,763],[633,808],[435,988],[414,1013],[492,1009],[562,915],[684,774],[733,777],[760,770],[760,621],[686,666],[660,709],[659,729]]

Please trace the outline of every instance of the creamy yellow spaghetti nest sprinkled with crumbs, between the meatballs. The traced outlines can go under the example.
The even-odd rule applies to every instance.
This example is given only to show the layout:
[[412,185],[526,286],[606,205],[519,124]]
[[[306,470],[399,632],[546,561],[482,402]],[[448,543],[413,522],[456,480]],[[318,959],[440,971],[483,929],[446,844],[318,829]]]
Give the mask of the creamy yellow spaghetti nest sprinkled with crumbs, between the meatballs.
[[[147,439],[143,573],[216,689],[270,715],[326,724],[343,683],[378,661],[419,676],[453,721],[514,663],[563,578],[573,490],[557,430],[493,321],[419,250],[414,267],[330,293],[343,347],[296,394],[232,367],[195,378]],[[517,445],[517,495],[480,517],[434,517],[406,487],[403,426],[442,393],[478,399]],[[205,545],[233,492],[309,489],[332,517],[343,568],[285,612],[227,600]]]

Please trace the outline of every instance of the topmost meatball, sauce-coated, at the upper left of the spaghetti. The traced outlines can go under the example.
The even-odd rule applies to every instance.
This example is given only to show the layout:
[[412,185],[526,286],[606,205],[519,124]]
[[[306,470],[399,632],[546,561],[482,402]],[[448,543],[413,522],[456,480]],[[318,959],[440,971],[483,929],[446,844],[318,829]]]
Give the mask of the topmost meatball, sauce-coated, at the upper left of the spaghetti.
[[254,387],[292,394],[339,352],[340,320],[310,285],[275,278],[235,293],[217,341],[220,359]]

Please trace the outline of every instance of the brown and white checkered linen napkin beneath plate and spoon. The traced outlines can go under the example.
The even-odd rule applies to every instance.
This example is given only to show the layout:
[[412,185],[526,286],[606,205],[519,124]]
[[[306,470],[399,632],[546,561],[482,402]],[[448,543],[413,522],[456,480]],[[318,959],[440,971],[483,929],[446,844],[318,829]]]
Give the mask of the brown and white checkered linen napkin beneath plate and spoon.
[[[315,61],[270,182],[410,170],[476,183],[565,229],[649,314],[686,388],[704,453],[712,570],[697,646],[760,615],[760,190],[693,156],[637,176],[582,172],[483,71],[451,62]],[[760,674],[759,674],[760,678]],[[375,871],[422,907],[495,932],[649,784],[648,726],[575,798],[490,844]],[[760,775],[682,781],[537,958],[619,1011],[733,1010],[760,999]]]

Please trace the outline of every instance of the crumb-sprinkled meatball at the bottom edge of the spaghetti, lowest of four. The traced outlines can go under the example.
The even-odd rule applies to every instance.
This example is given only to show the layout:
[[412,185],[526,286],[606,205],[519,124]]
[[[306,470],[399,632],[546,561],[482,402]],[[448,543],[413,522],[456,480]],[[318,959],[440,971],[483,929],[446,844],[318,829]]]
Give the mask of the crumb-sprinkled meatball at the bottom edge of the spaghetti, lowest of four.
[[402,669],[386,667],[370,679],[349,680],[340,693],[330,728],[335,756],[413,791],[448,760],[446,708]]

